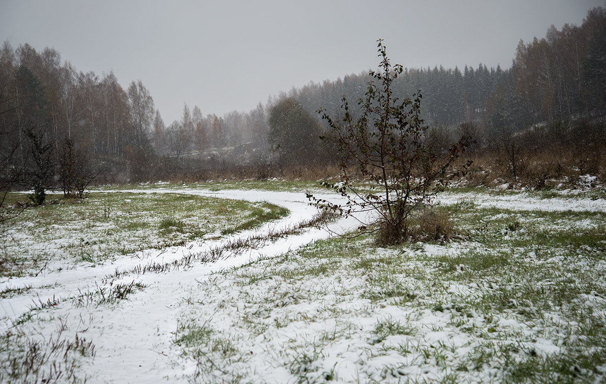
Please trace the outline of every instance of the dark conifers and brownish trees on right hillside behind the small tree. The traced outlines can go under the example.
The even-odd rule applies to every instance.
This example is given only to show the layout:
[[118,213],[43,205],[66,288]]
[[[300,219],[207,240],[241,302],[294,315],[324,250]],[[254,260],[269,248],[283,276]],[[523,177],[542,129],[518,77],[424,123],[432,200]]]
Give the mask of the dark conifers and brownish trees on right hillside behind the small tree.
[[[422,114],[432,124],[453,126],[478,122],[491,128],[516,130],[539,122],[603,116],[606,110],[606,10],[588,11],[582,25],[553,25],[545,38],[520,41],[511,67],[465,65],[460,70],[405,68],[394,82],[396,94],[423,94]],[[361,98],[368,74],[350,74],[337,81],[310,83],[293,89],[308,111],[318,105],[339,110],[341,95]]]

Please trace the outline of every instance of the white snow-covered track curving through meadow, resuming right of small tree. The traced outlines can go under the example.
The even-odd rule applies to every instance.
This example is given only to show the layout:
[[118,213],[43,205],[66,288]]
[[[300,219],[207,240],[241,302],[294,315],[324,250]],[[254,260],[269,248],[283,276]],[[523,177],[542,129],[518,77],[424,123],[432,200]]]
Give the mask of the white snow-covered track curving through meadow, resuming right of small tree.
[[[124,191],[124,190],[122,190]],[[187,374],[194,371],[190,360],[178,356],[174,348],[175,331],[178,327],[178,303],[187,299],[191,286],[198,285],[213,271],[242,265],[259,257],[282,254],[316,239],[330,236],[327,230],[308,228],[304,233],[290,235],[245,253],[231,255],[215,263],[198,263],[187,268],[171,270],[167,273],[130,273],[118,279],[104,279],[116,271],[132,271],[153,262],[171,262],[188,254],[203,253],[220,247],[235,239],[246,239],[256,234],[267,234],[270,230],[291,227],[295,223],[311,219],[317,213],[308,205],[304,193],[273,192],[258,190],[207,191],[195,189],[175,190],[172,188],[151,191],[127,190],[134,193],[183,193],[228,199],[242,199],[251,202],[267,201],[290,210],[290,215],[276,222],[265,224],[253,231],[244,231],[225,239],[191,242],[183,247],[166,250],[145,250],[122,256],[112,263],[87,268],[78,266],[72,270],[43,274],[37,277],[23,277],[0,280],[0,290],[8,287],[33,286],[33,294],[23,294],[0,301],[0,331],[10,328],[12,321],[32,307],[32,300],[46,302],[48,299],[63,300],[52,310],[53,321],[37,322],[35,333],[42,337],[54,332],[58,325],[67,329],[65,333],[92,340],[95,345],[95,359],[84,360],[82,372],[92,383],[150,383],[168,381],[185,382]],[[107,191],[111,193],[112,191]],[[328,197],[328,196],[320,196]],[[606,202],[583,199],[558,199],[549,202],[524,196],[487,196],[479,194],[448,194],[442,202],[450,204],[458,199],[473,199],[479,206],[498,206],[528,210],[590,210],[606,212]],[[336,195],[331,194],[335,200]],[[330,225],[331,231],[342,232],[355,228],[355,219],[341,219]],[[130,282],[143,283],[146,288],[131,294],[128,300],[115,305],[77,306],[73,298],[87,291],[98,290],[101,286]],[[39,288],[39,287],[46,288]],[[182,308],[181,308],[182,309]],[[60,323],[60,324],[59,324]],[[64,333],[64,334],[65,334]],[[172,347],[171,347],[172,346]]]

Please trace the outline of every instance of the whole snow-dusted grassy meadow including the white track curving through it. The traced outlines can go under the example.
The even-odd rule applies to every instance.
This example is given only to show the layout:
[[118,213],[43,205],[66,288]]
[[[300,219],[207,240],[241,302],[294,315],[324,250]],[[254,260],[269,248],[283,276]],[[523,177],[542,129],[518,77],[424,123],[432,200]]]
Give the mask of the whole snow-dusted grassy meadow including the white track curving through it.
[[0,277],[0,382],[605,382],[601,194],[451,191],[461,240],[379,248],[331,235],[355,220],[314,225],[306,187],[25,211],[1,228],[20,268]]

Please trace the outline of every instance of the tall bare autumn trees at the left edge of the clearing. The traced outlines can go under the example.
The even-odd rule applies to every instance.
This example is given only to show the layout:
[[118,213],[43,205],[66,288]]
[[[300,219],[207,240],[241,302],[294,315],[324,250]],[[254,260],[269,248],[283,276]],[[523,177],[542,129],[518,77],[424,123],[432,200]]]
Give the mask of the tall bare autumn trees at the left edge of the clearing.
[[150,151],[153,113],[153,99],[141,81],[124,90],[112,72],[99,78],[62,63],[52,48],[13,49],[5,42],[0,49],[2,187],[7,180],[56,187],[65,182],[59,168],[68,157],[72,166],[115,168],[126,156]]

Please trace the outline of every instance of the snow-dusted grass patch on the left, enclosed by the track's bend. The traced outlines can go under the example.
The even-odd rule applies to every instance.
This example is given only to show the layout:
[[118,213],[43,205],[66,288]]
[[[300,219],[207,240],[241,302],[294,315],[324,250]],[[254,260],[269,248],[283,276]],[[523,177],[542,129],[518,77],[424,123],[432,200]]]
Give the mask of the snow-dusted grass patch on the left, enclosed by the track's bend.
[[[9,194],[11,200],[25,195]],[[184,245],[261,226],[288,210],[267,202],[179,193],[90,193],[30,207],[0,225],[0,276],[95,265],[148,248]],[[84,231],[83,231],[84,230]]]

